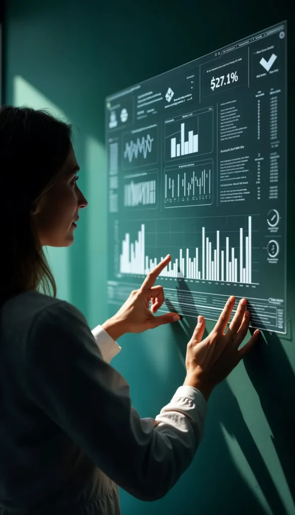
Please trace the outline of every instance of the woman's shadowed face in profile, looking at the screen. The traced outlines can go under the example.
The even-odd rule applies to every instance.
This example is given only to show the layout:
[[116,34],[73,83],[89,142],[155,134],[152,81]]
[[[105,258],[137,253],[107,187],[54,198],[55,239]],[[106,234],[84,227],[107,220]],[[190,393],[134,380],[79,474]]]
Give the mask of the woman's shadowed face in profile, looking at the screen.
[[54,185],[40,199],[34,214],[42,246],[68,247],[74,241],[73,222],[79,216],[79,209],[87,206],[87,200],[76,184],[78,170],[71,145],[68,158]]

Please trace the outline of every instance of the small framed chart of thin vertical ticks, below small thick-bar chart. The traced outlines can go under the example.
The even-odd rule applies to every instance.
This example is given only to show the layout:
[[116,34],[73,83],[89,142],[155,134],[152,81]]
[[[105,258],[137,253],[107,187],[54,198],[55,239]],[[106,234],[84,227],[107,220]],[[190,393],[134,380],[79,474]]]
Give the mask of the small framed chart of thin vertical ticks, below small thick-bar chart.
[[212,203],[213,162],[165,169],[166,208]]

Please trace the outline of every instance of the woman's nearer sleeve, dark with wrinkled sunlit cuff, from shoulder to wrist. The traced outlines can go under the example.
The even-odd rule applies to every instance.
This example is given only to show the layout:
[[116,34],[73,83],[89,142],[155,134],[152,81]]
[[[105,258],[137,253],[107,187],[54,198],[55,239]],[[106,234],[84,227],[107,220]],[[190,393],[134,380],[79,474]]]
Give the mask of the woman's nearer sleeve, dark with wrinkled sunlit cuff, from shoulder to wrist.
[[32,322],[26,372],[36,404],[138,499],[159,499],[190,465],[203,435],[202,394],[181,386],[156,419],[141,419],[128,384],[103,359],[83,314],[71,304],[53,304]]

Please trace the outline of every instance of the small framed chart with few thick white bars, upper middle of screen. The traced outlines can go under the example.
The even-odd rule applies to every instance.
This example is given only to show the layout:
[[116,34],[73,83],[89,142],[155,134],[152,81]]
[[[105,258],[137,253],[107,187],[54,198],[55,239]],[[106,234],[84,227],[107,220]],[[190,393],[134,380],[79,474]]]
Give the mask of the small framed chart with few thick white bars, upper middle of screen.
[[212,151],[212,108],[165,121],[165,159],[183,159]]

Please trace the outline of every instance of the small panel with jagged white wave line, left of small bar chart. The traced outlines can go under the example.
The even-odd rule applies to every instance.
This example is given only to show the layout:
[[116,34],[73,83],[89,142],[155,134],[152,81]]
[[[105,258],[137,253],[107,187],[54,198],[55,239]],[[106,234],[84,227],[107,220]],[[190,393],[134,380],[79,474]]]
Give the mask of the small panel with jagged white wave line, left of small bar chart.
[[123,167],[133,168],[158,160],[158,126],[150,125],[123,134]]

